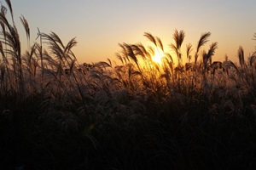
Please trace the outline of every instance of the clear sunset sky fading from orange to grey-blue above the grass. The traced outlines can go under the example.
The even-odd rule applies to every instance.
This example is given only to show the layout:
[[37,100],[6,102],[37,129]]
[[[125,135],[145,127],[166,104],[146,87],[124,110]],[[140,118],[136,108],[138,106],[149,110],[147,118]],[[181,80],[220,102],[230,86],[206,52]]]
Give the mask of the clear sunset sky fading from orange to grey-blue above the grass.
[[[147,45],[143,33],[148,31],[160,37],[166,51],[173,42],[175,29],[185,31],[183,49],[195,45],[201,33],[210,31],[210,42],[218,42],[213,60],[237,59],[241,45],[247,56],[256,42],[255,0],[13,0],[16,25],[20,27],[23,47],[26,33],[19,17],[24,15],[31,29],[31,42],[37,37],[37,28],[44,33],[54,31],[67,43],[77,37],[73,48],[79,62],[118,60],[119,42]],[[19,24],[18,24],[19,23]],[[195,53],[195,50],[192,52]]]

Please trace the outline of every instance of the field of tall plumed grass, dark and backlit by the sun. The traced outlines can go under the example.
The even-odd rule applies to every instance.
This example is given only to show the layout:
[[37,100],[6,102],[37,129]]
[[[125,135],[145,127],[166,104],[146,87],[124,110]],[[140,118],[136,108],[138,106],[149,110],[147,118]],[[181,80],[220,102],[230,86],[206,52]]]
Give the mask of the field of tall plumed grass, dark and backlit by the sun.
[[[122,65],[79,65],[75,39],[38,32],[21,54],[11,3],[0,13],[0,169],[256,169],[256,54],[212,62],[210,33],[173,56],[119,44]],[[29,27],[20,18],[29,40]],[[158,47],[158,48],[156,48]],[[164,52],[161,64],[154,53]],[[183,64],[186,56],[188,63]]]

